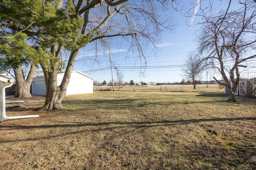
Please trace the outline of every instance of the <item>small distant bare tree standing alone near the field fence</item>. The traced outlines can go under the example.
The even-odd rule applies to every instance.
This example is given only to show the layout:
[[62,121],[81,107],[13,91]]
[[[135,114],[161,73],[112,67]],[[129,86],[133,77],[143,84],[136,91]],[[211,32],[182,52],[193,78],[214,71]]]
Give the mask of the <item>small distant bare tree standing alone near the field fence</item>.
[[200,63],[200,58],[194,52],[190,52],[182,67],[183,76],[186,80],[192,81],[194,89],[196,89],[196,80],[201,78],[202,66]]

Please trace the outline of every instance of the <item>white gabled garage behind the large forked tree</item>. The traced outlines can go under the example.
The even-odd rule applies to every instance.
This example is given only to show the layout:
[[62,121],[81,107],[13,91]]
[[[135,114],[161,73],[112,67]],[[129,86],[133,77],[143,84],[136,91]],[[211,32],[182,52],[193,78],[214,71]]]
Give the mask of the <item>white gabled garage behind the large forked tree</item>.
[[[65,72],[60,72],[57,74],[57,84],[60,85]],[[93,93],[93,80],[91,76],[84,74],[78,70],[74,70],[71,73],[70,81],[68,83],[68,88],[66,95],[69,94],[88,94]],[[44,76],[37,76],[33,78],[31,84],[32,94],[36,95],[46,95],[46,86],[44,82]]]

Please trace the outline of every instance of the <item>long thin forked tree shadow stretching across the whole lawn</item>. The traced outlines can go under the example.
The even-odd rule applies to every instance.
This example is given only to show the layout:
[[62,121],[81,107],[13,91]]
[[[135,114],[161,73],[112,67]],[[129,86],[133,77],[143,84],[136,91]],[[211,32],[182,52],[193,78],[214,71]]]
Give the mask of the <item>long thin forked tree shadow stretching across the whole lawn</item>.
[[[100,123],[79,123],[74,122],[72,124],[54,124],[54,125],[32,125],[32,126],[24,126],[24,125],[4,125],[2,129],[6,130],[18,130],[18,129],[37,129],[37,128],[69,128],[69,127],[88,127],[87,130],[82,131],[72,131],[67,133],[62,133],[60,135],[50,135],[47,137],[35,137],[35,139],[51,139],[54,137],[62,136],[62,135],[72,135],[77,133],[83,133],[88,131],[106,131],[113,130],[118,128],[144,128],[144,127],[157,127],[157,126],[174,126],[174,125],[184,125],[190,123],[199,123],[199,122],[207,122],[207,121],[244,121],[244,120],[256,120],[256,117],[235,117],[235,118],[210,118],[210,119],[187,119],[187,120],[165,120],[165,121],[144,121],[144,122],[120,122],[120,121],[109,121],[109,122],[100,122]],[[109,125],[115,125],[114,127],[109,127]],[[119,126],[118,126],[119,125]],[[89,127],[98,127],[97,129],[90,129]],[[17,140],[6,140],[1,141],[3,143],[14,142],[14,141],[29,141],[34,140],[34,138],[29,139],[17,139]]]

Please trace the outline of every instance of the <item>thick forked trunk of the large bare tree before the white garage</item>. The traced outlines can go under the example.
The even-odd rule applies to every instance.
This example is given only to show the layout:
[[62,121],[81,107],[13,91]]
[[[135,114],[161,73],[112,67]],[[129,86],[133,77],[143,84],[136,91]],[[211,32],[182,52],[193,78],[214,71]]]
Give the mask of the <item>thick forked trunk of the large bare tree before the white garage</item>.
[[70,76],[79,51],[80,49],[76,49],[71,52],[60,86],[57,84],[57,67],[54,67],[51,69],[51,71],[48,71],[48,75],[47,72],[44,71],[46,80],[46,100],[44,106],[40,110],[64,110],[61,102],[66,94]]

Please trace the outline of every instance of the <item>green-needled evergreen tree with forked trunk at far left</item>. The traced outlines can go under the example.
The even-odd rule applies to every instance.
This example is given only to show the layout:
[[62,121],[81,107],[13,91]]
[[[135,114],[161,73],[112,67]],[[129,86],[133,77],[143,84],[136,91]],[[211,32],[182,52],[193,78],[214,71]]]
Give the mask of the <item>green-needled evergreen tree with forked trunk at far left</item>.
[[[46,78],[51,76],[54,70],[61,71],[63,63],[60,61],[60,52],[63,47],[76,47],[77,44],[72,39],[77,39],[77,35],[72,31],[78,31],[82,27],[82,22],[73,15],[72,8],[74,6],[70,7],[69,1],[64,10],[50,1],[0,2],[1,21],[5,23],[1,25],[0,30],[0,66],[5,71],[10,68],[14,70],[14,97],[31,97],[30,86],[38,63]],[[54,68],[48,69],[49,65]],[[23,66],[30,70],[23,70]],[[25,72],[29,72],[28,75],[25,75]]]

